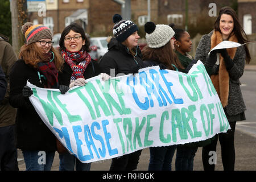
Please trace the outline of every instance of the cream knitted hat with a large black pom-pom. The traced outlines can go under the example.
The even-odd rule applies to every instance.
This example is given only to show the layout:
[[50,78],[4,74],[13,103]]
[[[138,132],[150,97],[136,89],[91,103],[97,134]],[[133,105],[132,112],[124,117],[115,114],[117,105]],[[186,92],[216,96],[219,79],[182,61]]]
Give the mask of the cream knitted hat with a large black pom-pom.
[[174,30],[166,24],[147,22],[144,25],[148,47],[159,48],[166,45],[174,37]]

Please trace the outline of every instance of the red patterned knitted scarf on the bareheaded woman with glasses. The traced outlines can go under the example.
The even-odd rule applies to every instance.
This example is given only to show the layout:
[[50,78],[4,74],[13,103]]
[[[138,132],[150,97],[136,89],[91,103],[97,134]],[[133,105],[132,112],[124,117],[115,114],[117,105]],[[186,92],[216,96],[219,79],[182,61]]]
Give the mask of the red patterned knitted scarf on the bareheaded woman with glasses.
[[84,71],[91,60],[89,53],[84,50],[79,52],[70,52],[65,49],[61,51],[61,55],[73,71],[70,83],[75,81],[77,78],[84,78]]

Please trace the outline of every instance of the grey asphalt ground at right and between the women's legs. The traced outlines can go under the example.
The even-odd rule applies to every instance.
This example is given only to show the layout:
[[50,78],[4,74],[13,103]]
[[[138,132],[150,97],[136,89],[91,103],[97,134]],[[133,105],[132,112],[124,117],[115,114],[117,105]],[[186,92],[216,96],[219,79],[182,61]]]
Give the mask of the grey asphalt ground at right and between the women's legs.
[[[243,98],[246,103],[246,121],[237,122],[235,133],[236,147],[236,171],[256,171],[256,67],[246,69],[241,78]],[[201,147],[197,150],[194,160],[194,171],[203,171],[201,161]],[[147,171],[149,162],[149,150],[145,148],[139,159],[138,171]],[[172,161],[172,169],[175,169],[175,156]],[[24,171],[22,152],[18,150],[19,170]],[[111,160],[92,163],[91,171],[108,171]],[[217,145],[217,164],[216,171],[222,171],[220,144]],[[59,155],[56,152],[52,165],[52,171],[59,171]]]

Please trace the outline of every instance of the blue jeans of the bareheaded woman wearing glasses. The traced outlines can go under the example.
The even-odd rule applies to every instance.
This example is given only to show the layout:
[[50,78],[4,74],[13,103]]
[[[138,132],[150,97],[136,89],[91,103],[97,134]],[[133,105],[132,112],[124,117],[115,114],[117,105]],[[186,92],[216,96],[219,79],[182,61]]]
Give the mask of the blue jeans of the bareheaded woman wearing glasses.
[[74,155],[68,152],[59,155],[60,158],[60,171],[90,171],[90,164],[92,163],[82,163]]

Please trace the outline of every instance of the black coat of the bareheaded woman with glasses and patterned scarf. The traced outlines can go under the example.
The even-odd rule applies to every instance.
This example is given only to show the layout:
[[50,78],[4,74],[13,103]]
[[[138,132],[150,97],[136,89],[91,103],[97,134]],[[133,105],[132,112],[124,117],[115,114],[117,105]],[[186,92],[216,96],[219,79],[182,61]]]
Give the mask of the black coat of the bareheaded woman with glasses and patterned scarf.
[[[69,86],[72,73],[71,67],[67,63],[64,63],[62,71],[59,72],[59,84]],[[100,66],[92,59],[84,71],[84,78],[86,80],[88,78],[98,76],[100,73]]]

